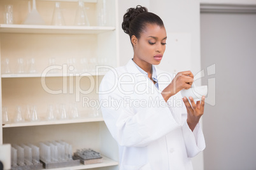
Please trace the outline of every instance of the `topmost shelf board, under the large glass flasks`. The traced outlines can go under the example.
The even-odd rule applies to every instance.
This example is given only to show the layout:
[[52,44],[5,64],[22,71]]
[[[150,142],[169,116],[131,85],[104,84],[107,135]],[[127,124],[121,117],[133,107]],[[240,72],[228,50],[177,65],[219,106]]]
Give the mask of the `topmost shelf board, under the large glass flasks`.
[[110,32],[113,30],[115,30],[115,27],[0,24],[0,32],[1,33],[101,34],[103,32]]

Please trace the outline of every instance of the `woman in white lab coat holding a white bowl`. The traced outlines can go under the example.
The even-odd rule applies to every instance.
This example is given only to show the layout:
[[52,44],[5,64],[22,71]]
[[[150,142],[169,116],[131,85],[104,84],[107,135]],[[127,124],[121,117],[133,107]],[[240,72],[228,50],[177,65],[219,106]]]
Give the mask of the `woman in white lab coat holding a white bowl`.
[[204,96],[197,103],[189,98],[191,105],[187,98],[179,103],[178,92],[191,87],[193,74],[179,72],[171,80],[154,66],[166,49],[159,16],[145,7],[129,8],[122,29],[130,36],[134,56],[110,70],[99,88],[101,102],[108,101],[101,110],[118,143],[120,169],[192,169],[190,157],[205,148],[199,126]]

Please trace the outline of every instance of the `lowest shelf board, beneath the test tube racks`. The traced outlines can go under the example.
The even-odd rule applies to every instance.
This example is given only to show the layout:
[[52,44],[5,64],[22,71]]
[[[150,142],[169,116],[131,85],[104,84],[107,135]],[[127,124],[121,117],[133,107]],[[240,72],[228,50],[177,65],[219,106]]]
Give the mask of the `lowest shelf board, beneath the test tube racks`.
[[88,165],[80,165],[80,166],[70,166],[70,167],[60,167],[60,168],[54,168],[54,169],[49,169],[49,170],[64,170],[64,169],[69,169],[69,170],[75,170],[75,169],[90,169],[90,168],[95,168],[95,167],[107,167],[107,166],[118,166],[118,162],[112,159],[109,159],[108,157],[103,156],[103,162],[98,163],[98,164],[88,164]]

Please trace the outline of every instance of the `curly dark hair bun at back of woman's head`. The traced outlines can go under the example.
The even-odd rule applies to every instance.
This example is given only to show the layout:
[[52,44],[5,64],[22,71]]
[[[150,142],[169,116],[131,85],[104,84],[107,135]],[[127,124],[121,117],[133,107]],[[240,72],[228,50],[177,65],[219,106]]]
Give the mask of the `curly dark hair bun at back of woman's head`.
[[124,15],[124,20],[122,23],[122,29],[124,30],[124,32],[126,34],[129,34],[129,32],[130,32],[129,26],[130,26],[131,21],[139,14],[146,13],[146,12],[148,12],[148,9],[146,7],[143,7],[140,5],[136,6],[136,8],[129,8],[127,10],[127,13],[125,13],[125,15]]

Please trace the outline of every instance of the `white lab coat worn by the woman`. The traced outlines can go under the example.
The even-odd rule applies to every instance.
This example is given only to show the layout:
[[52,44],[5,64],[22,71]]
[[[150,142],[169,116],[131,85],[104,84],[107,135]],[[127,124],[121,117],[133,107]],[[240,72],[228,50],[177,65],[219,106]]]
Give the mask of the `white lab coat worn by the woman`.
[[120,170],[193,169],[190,157],[205,148],[203,132],[199,124],[194,132],[188,127],[180,93],[166,105],[160,92],[171,76],[155,68],[160,91],[132,60],[101,81],[101,110],[118,143]]

